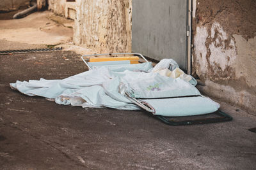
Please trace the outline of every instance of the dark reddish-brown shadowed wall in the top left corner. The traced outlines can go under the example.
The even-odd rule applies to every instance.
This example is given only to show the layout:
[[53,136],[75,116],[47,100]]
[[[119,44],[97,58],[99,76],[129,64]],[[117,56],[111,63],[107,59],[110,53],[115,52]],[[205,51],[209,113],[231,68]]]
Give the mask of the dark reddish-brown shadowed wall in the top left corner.
[[30,0],[1,0],[0,11],[19,10],[20,6],[28,6]]

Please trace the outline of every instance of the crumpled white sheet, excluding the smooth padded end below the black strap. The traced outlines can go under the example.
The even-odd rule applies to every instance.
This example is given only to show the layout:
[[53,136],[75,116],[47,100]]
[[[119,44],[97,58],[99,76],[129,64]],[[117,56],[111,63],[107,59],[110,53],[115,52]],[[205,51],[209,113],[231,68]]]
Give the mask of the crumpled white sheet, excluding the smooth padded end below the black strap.
[[63,80],[41,78],[40,80],[16,81],[16,83],[10,83],[10,86],[28,96],[54,99],[58,104],[71,104],[83,108],[108,107],[119,110],[140,109],[125,97],[125,92],[132,97],[200,94],[191,83],[188,83],[191,80],[190,76],[183,71],[183,73],[179,72],[181,71],[179,67],[176,67],[169,75],[166,70],[167,66],[148,72],[152,70],[152,65],[148,62],[138,65],[142,70],[140,72],[134,71],[135,65],[132,65],[127,69],[125,66],[112,69],[103,66]]

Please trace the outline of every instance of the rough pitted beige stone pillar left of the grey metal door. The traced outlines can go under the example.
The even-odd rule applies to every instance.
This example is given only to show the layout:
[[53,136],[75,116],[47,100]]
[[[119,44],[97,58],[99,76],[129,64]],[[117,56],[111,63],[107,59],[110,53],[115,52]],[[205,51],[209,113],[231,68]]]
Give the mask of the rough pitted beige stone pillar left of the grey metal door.
[[74,42],[95,53],[131,52],[131,1],[76,1]]

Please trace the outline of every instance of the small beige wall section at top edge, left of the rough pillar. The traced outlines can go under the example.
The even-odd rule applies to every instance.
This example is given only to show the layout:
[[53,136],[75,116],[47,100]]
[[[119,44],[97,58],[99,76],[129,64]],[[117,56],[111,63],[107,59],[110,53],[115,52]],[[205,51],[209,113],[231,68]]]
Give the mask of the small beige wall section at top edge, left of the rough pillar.
[[65,16],[66,0],[48,0],[48,9],[54,13]]

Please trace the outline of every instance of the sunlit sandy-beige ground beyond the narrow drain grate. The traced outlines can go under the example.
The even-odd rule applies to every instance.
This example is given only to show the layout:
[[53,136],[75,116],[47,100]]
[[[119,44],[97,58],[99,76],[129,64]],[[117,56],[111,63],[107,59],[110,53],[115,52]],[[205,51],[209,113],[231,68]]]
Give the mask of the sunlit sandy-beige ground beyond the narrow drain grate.
[[[8,14],[7,14],[8,15]],[[73,21],[49,11],[36,12],[17,20],[0,20],[1,50],[60,45],[72,41]],[[12,44],[13,45],[10,45]]]

